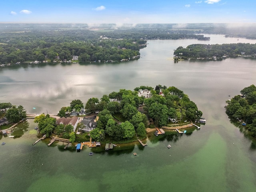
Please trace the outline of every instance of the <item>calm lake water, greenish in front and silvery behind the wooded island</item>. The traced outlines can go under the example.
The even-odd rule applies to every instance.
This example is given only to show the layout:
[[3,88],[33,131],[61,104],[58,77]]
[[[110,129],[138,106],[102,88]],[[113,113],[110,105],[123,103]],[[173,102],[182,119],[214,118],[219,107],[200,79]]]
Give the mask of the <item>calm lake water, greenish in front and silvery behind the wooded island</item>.
[[48,147],[47,139],[32,146],[36,124],[28,120],[14,133],[17,138],[0,136],[6,142],[0,148],[0,191],[256,191],[256,141],[224,109],[229,95],[256,84],[256,60],[173,61],[178,46],[256,40],[207,36],[210,41],[149,40],[141,58],[130,62],[0,68],[0,102],[21,104],[29,113],[56,114],[74,99],[85,104],[121,88],[161,84],[188,94],[207,121],[186,135],[149,135],[144,148],[132,143],[77,153],[63,150],[62,143]]

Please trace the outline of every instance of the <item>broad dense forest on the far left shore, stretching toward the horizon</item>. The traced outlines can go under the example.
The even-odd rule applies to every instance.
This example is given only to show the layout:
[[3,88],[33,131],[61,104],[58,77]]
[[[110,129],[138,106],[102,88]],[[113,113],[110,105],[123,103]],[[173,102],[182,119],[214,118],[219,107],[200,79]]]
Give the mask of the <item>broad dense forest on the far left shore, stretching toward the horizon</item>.
[[[2,28],[0,33],[0,64],[72,60],[79,62],[120,61],[139,58],[140,49],[148,39],[196,38],[209,40],[194,30],[152,28],[102,29],[51,28],[28,25],[28,28]],[[86,26],[84,26],[86,27]],[[48,30],[47,30],[48,29]],[[20,30],[20,31],[19,31]]]

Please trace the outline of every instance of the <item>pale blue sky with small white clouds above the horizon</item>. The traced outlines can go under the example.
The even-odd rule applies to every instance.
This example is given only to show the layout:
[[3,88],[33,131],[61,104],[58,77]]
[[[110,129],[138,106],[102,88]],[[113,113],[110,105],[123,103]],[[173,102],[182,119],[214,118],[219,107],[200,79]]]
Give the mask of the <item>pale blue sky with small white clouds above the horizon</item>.
[[0,0],[0,22],[256,23],[256,0]]

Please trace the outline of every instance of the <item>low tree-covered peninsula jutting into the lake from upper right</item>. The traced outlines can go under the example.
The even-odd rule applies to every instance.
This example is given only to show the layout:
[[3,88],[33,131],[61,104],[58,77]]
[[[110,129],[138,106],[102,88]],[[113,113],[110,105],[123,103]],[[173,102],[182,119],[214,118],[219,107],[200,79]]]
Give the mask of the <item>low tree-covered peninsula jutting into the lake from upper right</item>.
[[256,44],[237,43],[237,44],[191,44],[186,48],[178,47],[174,55],[183,58],[212,58],[223,56],[256,56]]

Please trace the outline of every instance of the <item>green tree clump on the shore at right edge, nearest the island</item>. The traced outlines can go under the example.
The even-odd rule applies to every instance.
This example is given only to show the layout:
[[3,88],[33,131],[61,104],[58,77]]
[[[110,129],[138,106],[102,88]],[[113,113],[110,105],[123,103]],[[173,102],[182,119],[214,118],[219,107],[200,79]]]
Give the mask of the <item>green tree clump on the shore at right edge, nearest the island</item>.
[[240,93],[226,101],[226,113],[242,122],[242,125],[256,138],[256,86],[252,84],[242,89]]

